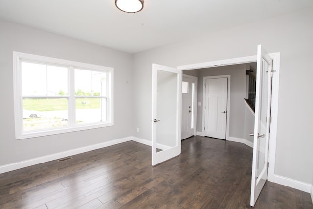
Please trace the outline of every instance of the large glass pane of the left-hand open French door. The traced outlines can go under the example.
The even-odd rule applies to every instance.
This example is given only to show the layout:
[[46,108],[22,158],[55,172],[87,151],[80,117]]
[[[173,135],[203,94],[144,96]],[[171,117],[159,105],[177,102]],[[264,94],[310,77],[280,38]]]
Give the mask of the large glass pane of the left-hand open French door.
[[157,71],[157,152],[176,146],[177,74]]

